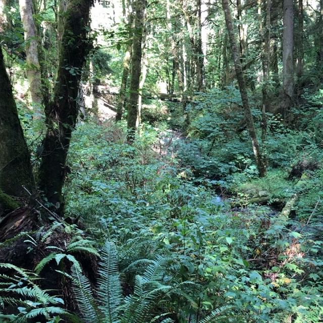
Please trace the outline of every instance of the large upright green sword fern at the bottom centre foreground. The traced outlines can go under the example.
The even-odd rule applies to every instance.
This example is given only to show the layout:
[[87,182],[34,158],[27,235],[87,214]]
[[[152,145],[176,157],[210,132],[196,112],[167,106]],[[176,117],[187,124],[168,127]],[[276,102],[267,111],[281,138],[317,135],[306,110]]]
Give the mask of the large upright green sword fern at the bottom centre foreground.
[[[75,299],[84,322],[173,322],[171,316],[174,313],[167,311],[167,302],[173,294],[184,297],[186,295],[181,292],[179,286],[167,284],[165,280],[169,259],[156,256],[153,260],[136,261],[136,264],[138,263],[146,263],[146,269],[141,275],[135,276],[134,291],[128,296],[123,296],[118,254],[113,243],[106,242],[102,248],[95,293],[80,267],[72,266],[72,275],[69,277],[73,281]],[[189,300],[189,297],[187,298]],[[199,323],[219,321],[222,313],[229,308],[229,306],[218,308]]]

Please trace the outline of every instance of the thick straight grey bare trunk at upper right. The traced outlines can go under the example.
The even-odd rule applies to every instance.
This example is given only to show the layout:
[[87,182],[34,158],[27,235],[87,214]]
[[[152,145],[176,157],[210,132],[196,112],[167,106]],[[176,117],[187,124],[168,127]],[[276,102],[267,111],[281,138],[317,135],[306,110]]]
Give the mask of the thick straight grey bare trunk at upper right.
[[284,0],[283,18],[283,114],[289,119],[289,110],[294,94],[294,4],[293,0]]

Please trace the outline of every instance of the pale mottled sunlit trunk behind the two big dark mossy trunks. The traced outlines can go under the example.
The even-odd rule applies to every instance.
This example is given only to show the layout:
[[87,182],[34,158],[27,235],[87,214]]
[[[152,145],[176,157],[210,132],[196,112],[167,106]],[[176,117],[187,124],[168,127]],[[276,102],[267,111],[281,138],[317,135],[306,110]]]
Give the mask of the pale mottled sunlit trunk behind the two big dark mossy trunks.
[[38,60],[37,33],[33,19],[32,0],[19,0],[20,16],[24,27],[26,44],[26,71],[31,100],[36,112],[41,112],[41,73]]

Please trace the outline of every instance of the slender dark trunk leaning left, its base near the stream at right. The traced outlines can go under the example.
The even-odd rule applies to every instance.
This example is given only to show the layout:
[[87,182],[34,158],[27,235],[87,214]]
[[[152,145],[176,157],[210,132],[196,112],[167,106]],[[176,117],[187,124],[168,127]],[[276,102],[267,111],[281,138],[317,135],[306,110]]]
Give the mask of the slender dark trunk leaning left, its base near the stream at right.
[[257,139],[257,135],[256,135],[256,131],[254,128],[253,117],[252,117],[252,113],[251,113],[251,109],[250,109],[250,105],[249,105],[247,87],[246,87],[246,83],[244,80],[244,75],[242,72],[242,66],[241,66],[241,61],[240,61],[240,51],[239,51],[238,45],[237,45],[237,40],[236,40],[234,28],[233,28],[233,21],[232,21],[232,16],[231,16],[228,0],[222,0],[222,8],[223,8],[223,11],[225,14],[225,20],[226,20],[227,30],[228,30],[228,34],[229,34],[229,40],[230,40],[230,45],[231,45],[231,49],[232,49],[232,54],[233,54],[233,61],[234,61],[234,66],[235,66],[235,70],[236,70],[236,76],[237,76],[237,80],[238,80],[238,84],[239,84],[242,105],[243,105],[243,109],[245,112],[245,119],[247,122],[248,131],[249,131],[249,135],[250,135],[251,142],[252,142],[253,153],[255,155],[259,176],[264,177],[266,174],[266,162],[265,162],[264,156],[261,153],[258,139]]

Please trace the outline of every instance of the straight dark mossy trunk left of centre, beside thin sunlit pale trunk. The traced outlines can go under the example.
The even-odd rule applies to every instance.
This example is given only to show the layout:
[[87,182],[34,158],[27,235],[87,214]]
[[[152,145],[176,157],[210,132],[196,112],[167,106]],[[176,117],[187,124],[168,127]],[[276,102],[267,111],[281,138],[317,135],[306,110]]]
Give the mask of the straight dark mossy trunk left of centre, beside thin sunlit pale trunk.
[[132,45],[131,59],[131,79],[130,79],[130,97],[128,107],[128,136],[127,140],[131,144],[135,139],[136,124],[138,119],[138,96],[139,83],[141,74],[141,58],[142,58],[142,36],[144,29],[144,12],[145,0],[136,0],[135,29]]

